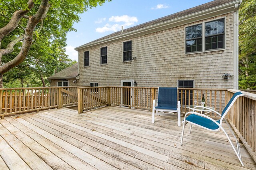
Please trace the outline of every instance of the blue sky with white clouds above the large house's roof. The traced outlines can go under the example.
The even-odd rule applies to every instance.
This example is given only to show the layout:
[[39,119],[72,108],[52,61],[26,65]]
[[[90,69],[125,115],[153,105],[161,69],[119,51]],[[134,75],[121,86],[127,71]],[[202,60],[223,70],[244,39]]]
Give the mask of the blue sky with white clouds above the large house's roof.
[[78,61],[75,47],[116,31],[180,12],[212,0],[112,0],[80,14],[77,31],[67,34],[66,54]]

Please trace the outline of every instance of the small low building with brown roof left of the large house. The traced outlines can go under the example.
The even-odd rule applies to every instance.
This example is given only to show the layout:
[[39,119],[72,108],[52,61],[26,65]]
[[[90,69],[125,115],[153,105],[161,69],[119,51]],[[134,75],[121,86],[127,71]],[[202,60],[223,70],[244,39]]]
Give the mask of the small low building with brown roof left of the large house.
[[78,63],[57,72],[56,74],[48,77],[50,86],[77,86],[79,79],[78,76]]

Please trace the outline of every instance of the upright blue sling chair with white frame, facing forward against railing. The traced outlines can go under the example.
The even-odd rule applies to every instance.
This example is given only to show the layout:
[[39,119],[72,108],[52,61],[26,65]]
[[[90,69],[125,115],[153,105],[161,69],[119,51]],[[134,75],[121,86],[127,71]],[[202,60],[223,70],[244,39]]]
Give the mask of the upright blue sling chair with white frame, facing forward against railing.
[[160,87],[158,88],[158,101],[153,100],[152,123],[158,111],[178,113],[178,126],[180,126],[180,101],[177,101],[176,87]]

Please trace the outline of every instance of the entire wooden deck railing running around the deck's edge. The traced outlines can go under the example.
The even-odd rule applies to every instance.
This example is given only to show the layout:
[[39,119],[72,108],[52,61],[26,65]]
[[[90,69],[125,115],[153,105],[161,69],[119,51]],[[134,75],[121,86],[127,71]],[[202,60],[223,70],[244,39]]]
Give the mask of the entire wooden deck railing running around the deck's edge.
[[[182,113],[191,105],[201,105],[202,94],[206,106],[222,112],[234,89],[178,88]],[[242,92],[227,114],[228,121],[256,161],[256,94]],[[157,99],[157,87],[40,87],[0,88],[0,116],[77,105],[78,113],[103,105],[152,109]],[[216,116],[214,113],[211,116]]]

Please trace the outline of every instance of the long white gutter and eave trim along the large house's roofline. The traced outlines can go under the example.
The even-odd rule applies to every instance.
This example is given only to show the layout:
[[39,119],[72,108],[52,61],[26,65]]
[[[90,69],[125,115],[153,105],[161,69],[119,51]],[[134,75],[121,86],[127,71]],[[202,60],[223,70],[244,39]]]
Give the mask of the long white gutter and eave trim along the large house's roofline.
[[176,18],[176,19],[173,19],[173,20],[170,20],[170,21],[157,23],[157,24],[154,24],[154,25],[151,25],[151,26],[148,26],[148,27],[144,27],[144,28],[141,28],[141,29],[130,31],[128,33],[122,33],[120,35],[116,35],[114,37],[110,37],[110,38],[107,38],[107,39],[96,41],[94,43],[90,43],[90,44],[87,44],[87,45],[81,45],[79,47],[76,47],[75,50],[78,51],[78,50],[83,49],[83,48],[92,48],[92,47],[95,47],[95,46],[98,46],[98,45],[111,43],[111,42],[114,42],[114,41],[119,41],[121,39],[129,39],[131,37],[136,37],[136,36],[139,36],[139,35],[145,35],[145,34],[153,33],[153,32],[156,32],[156,31],[163,30],[163,29],[168,29],[168,28],[171,28],[171,27],[184,25],[186,23],[191,23],[191,22],[194,22],[194,21],[203,20],[203,19],[206,19],[206,18],[209,18],[209,17],[214,17],[214,16],[226,14],[228,12],[233,12],[235,4],[240,5],[240,3],[241,3],[240,0],[236,0],[236,1],[233,1],[233,2],[230,2],[230,3],[227,3],[227,4],[223,4],[221,6],[216,6],[214,8],[210,8],[208,10],[204,10],[204,11],[196,12],[194,14],[189,14],[189,15],[186,15],[186,16],[182,16],[180,18]]

